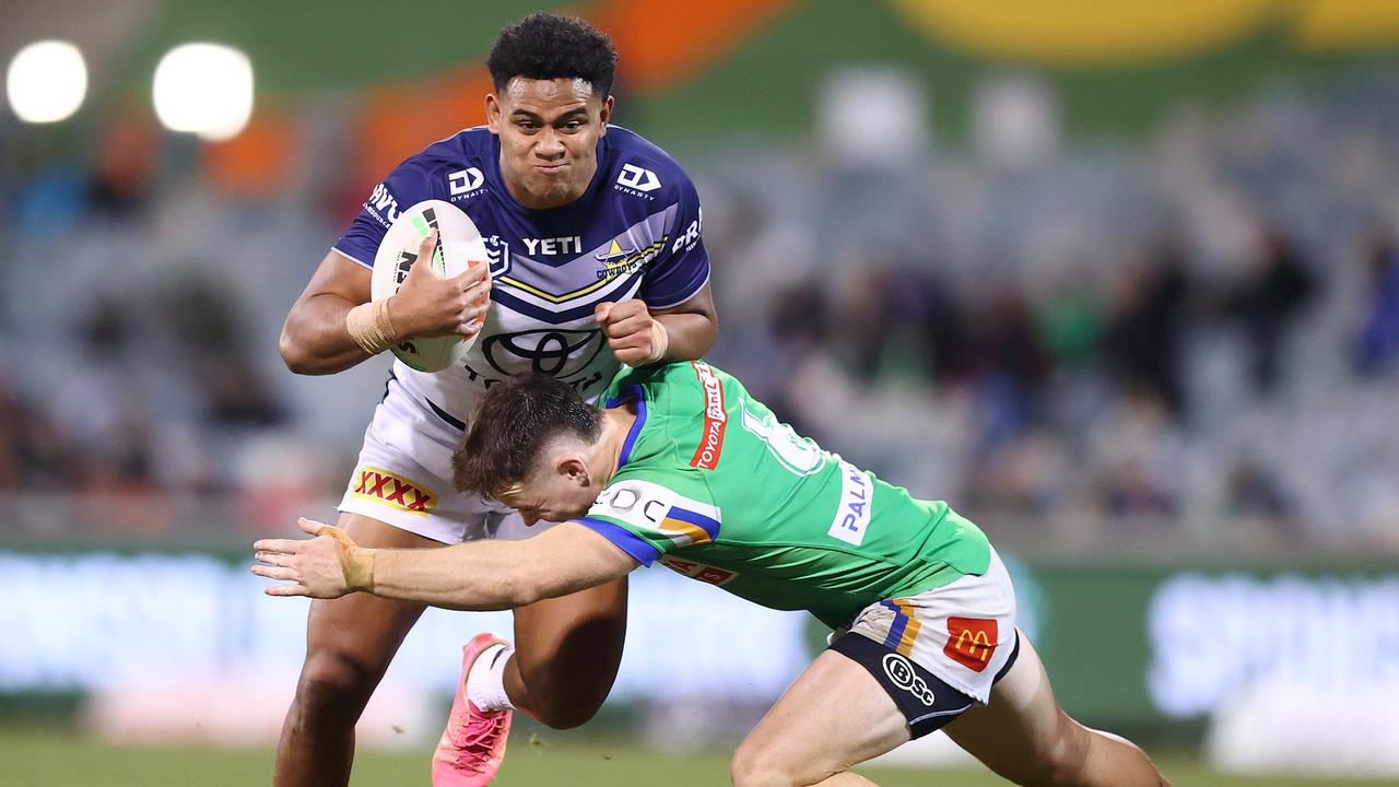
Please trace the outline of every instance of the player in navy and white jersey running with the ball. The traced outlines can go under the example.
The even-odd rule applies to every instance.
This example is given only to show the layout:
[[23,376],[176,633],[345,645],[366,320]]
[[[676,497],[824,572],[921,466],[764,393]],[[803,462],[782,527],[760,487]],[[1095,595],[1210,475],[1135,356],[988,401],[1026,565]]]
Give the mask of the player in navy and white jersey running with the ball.
[[[488,386],[536,372],[592,399],[620,363],[698,358],[713,342],[698,197],[665,151],[609,125],[611,41],[579,20],[536,14],[501,32],[487,67],[487,125],[428,146],[375,186],[283,329],[281,356],[298,374],[333,374],[416,336],[480,330],[464,361],[442,372],[395,361],[340,503],[340,527],[367,546],[526,535],[516,513],[452,489],[452,451]],[[490,281],[483,266],[443,279],[418,265],[396,295],[369,304],[385,231],[400,209],[432,197],[481,230]],[[453,714],[435,781],[490,779],[509,706],[572,727],[602,704],[621,658],[625,580],[578,590],[515,605],[515,650],[495,647],[483,678],[506,710]],[[348,781],[355,720],[421,612],[365,594],[312,605],[276,784]],[[466,667],[483,644],[469,646]]]

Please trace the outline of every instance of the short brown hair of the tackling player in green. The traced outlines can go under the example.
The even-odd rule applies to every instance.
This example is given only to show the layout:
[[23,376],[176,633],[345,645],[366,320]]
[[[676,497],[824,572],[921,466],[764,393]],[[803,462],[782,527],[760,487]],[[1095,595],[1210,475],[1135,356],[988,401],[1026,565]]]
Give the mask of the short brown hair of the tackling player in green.
[[525,374],[492,384],[471,412],[456,452],[452,485],[460,492],[495,494],[525,480],[540,450],[560,434],[593,441],[602,410],[554,377]]

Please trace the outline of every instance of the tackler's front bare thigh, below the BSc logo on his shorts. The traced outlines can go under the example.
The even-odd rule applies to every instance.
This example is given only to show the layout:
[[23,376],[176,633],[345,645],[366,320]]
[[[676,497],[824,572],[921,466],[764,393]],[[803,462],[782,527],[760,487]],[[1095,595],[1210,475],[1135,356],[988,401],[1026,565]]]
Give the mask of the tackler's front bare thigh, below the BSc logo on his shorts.
[[772,776],[814,784],[908,738],[904,713],[869,669],[828,650],[739,745],[733,777],[737,784]]

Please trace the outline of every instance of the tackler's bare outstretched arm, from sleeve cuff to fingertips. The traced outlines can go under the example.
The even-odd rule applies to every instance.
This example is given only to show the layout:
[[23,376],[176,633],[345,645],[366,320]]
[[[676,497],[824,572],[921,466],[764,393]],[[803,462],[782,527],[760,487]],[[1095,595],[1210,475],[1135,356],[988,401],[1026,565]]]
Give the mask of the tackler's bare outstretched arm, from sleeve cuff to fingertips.
[[339,598],[362,591],[448,609],[512,609],[631,573],[639,563],[592,529],[564,522],[525,541],[442,549],[365,549],[340,528],[299,520],[311,539],[262,539],[253,574],[288,584],[267,595]]

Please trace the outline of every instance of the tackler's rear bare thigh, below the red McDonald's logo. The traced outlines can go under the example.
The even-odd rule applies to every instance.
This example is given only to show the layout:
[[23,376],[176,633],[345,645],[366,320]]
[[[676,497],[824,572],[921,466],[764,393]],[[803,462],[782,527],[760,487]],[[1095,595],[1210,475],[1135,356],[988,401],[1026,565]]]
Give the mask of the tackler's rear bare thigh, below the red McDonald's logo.
[[1030,639],[1020,633],[1020,654],[996,682],[990,703],[974,707],[949,724],[947,737],[986,767],[1024,784],[1073,760],[1087,745],[1087,732],[1053,699],[1049,675]]

